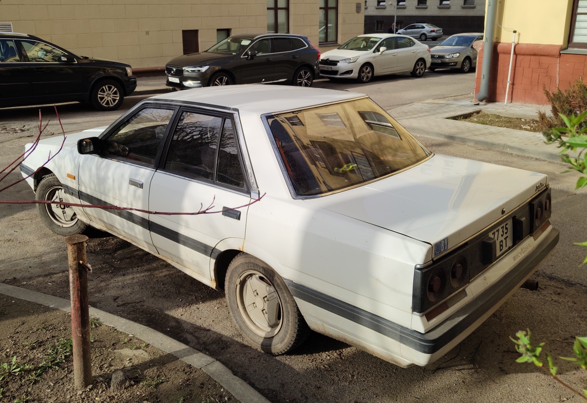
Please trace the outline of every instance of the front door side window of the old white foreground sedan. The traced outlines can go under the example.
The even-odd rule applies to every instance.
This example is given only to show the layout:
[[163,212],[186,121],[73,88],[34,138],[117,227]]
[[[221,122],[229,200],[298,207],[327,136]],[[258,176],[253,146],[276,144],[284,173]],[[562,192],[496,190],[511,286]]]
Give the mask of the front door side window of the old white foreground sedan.
[[153,165],[173,112],[173,109],[141,109],[105,139],[100,155]]

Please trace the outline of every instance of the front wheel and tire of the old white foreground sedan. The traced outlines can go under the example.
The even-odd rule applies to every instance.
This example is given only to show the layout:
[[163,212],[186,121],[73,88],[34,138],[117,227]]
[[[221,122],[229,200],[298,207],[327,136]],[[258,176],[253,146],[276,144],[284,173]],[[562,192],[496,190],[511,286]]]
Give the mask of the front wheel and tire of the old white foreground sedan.
[[[55,174],[45,176],[37,187],[35,200],[60,200],[63,201],[63,185]],[[69,236],[81,234],[86,230],[87,224],[79,219],[73,207],[59,206],[58,204],[37,204],[41,221],[54,233]]]

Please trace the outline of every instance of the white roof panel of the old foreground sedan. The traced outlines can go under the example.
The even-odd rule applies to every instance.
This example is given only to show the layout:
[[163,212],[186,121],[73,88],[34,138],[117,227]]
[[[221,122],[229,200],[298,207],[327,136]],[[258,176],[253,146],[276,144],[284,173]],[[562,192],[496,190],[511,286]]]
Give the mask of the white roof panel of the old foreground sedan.
[[365,96],[358,92],[322,88],[246,84],[189,89],[161,94],[149,99],[235,108],[239,112],[249,112],[260,116],[264,113],[308,108]]

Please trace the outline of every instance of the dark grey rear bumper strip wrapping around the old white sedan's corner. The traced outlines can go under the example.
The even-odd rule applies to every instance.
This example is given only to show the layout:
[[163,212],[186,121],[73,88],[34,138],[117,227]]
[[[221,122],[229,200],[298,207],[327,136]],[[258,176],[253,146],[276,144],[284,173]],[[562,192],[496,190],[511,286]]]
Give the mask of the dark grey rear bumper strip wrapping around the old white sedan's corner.
[[363,325],[416,351],[433,354],[467,330],[478,318],[482,317],[504,298],[512,290],[512,287],[521,283],[528,274],[532,273],[542,259],[548,256],[556,246],[558,239],[559,231],[553,228],[548,236],[537,245],[531,255],[520,260],[497,283],[487,288],[477,298],[446,318],[443,323],[428,333],[419,333],[302,284],[288,279],[284,280],[294,297],[300,300]]

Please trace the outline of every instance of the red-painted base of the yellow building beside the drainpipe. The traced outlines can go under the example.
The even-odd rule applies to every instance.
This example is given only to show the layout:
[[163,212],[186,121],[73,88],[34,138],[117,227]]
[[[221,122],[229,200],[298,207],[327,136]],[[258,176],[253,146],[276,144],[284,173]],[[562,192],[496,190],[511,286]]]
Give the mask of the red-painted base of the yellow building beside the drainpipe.
[[[488,101],[505,101],[508,70],[510,69],[511,43],[494,44],[491,59],[491,78]],[[508,102],[548,104],[543,86],[549,91],[565,90],[578,79],[587,75],[587,55],[561,53],[560,45],[535,45],[517,43],[514,48],[514,68]],[[483,49],[477,59],[475,95],[481,85]]]

